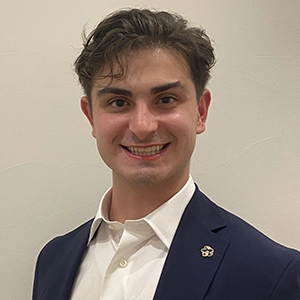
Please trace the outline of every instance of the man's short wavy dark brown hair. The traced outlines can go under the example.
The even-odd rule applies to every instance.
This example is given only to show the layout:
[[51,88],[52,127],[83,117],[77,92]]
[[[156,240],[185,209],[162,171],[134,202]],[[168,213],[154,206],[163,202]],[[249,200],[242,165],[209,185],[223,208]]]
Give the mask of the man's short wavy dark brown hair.
[[117,11],[100,22],[86,38],[75,62],[90,106],[94,80],[103,69],[109,70],[105,76],[121,78],[126,75],[126,57],[147,49],[169,49],[181,55],[200,97],[215,63],[213,47],[204,30],[189,27],[176,14],[131,9]]

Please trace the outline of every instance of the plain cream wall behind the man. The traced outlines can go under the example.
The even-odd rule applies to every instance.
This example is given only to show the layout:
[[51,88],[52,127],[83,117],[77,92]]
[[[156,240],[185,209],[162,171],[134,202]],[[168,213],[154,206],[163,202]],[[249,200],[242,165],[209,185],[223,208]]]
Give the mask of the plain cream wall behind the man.
[[[110,172],[73,72],[84,26],[124,7],[206,28],[218,62],[192,174],[215,202],[300,248],[298,0],[11,0],[0,9],[0,297],[30,299],[41,247],[94,216]],[[276,263],[276,262],[274,262]]]

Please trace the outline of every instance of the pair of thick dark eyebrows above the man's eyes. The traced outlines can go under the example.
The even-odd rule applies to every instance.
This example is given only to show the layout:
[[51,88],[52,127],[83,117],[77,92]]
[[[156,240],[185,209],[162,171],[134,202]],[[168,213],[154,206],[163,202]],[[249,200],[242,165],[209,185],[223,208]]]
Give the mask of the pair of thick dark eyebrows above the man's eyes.
[[[154,86],[150,89],[150,93],[152,95],[167,91],[172,88],[181,88],[181,89],[186,89],[185,84],[182,84],[180,81],[174,81],[174,82],[168,82],[165,84],[161,84],[158,86]],[[101,90],[97,91],[97,96],[101,97],[104,94],[116,94],[116,95],[123,95],[123,96],[132,96],[132,92],[126,89],[121,89],[117,87],[105,87]]]

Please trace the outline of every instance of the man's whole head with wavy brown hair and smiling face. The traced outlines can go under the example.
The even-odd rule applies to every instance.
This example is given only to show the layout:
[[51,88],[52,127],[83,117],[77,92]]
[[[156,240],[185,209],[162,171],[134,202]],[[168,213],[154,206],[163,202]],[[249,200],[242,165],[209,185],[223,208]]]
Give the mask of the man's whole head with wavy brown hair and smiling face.
[[172,194],[185,184],[213,63],[203,30],[166,12],[117,12],[87,38],[76,61],[81,108],[115,188],[170,184]]

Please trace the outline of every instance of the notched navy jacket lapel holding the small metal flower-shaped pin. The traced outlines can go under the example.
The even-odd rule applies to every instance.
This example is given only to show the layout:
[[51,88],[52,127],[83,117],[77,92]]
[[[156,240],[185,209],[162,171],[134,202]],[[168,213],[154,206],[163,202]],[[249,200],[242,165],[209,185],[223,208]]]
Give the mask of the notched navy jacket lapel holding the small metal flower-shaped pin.
[[[155,300],[204,299],[229,243],[216,234],[225,226],[218,207],[197,189],[177,228]],[[204,246],[214,249],[211,257],[202,256]]]

